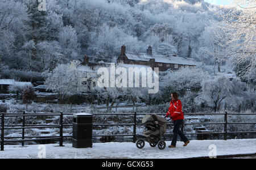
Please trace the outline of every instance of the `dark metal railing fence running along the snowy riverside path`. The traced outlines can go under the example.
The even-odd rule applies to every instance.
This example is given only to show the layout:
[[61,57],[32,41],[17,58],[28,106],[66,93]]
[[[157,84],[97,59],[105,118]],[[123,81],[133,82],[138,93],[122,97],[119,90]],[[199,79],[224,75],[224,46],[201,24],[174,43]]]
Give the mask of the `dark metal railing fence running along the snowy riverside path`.
[[[45,141],[49,139],[59,139],[59,146],[63,146],[63,138],[72,137],[72,136],[63,136],[63,127],[64,126],[72,126],[72,124],[63,124],[63,116],[64,115],[72,115],[73,113],[1,113],[1,151],[4,150],[5,142],[21,142],[22,146],[24,146],[24,142],[30,141]],[[115,135],[93,135],[93,137],[133,137],[133,142],[136,141],[136,129],[137,126],[141,126],[142,124],[137,124],[137,116],[144,115],[147,113],[94,113],[93,115],[126,115],[131,116],[133,118],[133,124],[93,124],[93,126],[133,126],[133,134],[115,134]],[[164,115],[162,113],[156,113],[159,115]],[[256,133],[256,131],[228,131],[227,125],[230,124],[256,124],[256,122],[228,122],[228,115],[255,115],[255,114],[237,114],[237,113],[184,113],[184,115],[224,115],[224,122],[203,122],[203,123],[184,123],[181,126],[181,131],[184,131],[185,125],[224,125],[224,132],[213,132],[213,133],[184,133],[184,134],[224,134],[224,140],[227,139],[227,134],[232,133]],[[59,124],[57,125],[26,125],[25,120],[26,117],[42,117],[42,116],[59,116]],[[133,116],[133,117],[132,117]],[[5,125],[5,117],[22,117],[22,125]],[[167,124],[173,125],[173,124]],[[59,136],[25,136],[25,129],[40,129],[40,128],[59,128]],[[22,129],[22,136],[21,137],[5,137],[5,130],[7,129]],[[164,135],[171,135],[164,134]],[[18,140],[5,140],[8,139],[15,139],[21,138]],[[26,139],[26,138],[35,138],[35,139]]]

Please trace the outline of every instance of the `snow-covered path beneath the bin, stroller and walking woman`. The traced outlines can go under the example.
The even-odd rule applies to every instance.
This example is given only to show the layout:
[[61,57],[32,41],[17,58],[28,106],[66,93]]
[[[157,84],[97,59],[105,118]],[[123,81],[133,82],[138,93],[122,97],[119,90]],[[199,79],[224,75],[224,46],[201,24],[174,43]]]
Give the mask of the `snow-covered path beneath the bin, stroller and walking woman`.
[[[71,143],[64,147],[57,144],[46,146],[46,158],[192,158],[209,155],[209,146],[215,145],[217,155],[254,154],[256,152],[256,139],[230,139],[191,141],[187,147],[182,142],[177,142],[176,148],[150,147],[148,143],[139,150],[135,143],[110,142],[93,143],[92,148],[73,148]],[[167,142],[167,146],[170,142]],[[5,146],[5,151],[0,151],[0,158],[38,158],[39,145]],[[42,153],[42,152],[41,152]]]

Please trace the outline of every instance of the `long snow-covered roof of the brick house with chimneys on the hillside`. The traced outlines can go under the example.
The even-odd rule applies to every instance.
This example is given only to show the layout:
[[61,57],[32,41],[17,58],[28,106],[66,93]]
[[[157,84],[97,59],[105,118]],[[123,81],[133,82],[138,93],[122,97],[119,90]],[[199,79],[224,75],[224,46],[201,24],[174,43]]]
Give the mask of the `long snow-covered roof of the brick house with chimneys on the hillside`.
[[152,56],[147,55],[146,53],[132,53],[126,52],[126,57],[128,59],[133,59],[137,61],[149,61],[150,59],[155,58],[155,62],[162,63],[176,63],[179,65],[199,65],[193,58],[183,58],[183,57],[167,57],[160,54],[153,54]]

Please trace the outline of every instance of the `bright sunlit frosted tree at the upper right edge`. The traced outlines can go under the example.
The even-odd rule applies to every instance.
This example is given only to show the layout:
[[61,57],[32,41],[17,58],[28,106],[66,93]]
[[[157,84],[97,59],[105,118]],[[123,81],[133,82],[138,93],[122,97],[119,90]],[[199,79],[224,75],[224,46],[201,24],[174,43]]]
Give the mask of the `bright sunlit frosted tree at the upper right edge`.
[[223,21],[220,28],[225,44],[219,44],[226,50],[222,53],[232,58],[237,75],[247,80],[255,80],[256,58],[256,2],[254,0],[235,0],[234,7],[226,9],[225,13],[218,13]]

